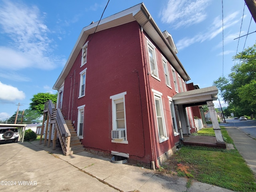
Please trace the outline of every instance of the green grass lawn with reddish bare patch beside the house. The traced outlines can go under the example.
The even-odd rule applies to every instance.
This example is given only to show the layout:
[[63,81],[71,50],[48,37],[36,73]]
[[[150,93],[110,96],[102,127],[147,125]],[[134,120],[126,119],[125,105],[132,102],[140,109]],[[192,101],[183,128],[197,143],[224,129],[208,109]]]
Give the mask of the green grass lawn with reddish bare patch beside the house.
[[[233,141],[221,127],[226,143]],[[212,128],[203,128],[198,135],[214,136]],[[255,192],[256,179],[236,149],[227,150],[199,146],[182,146],[167,160],[160,171],[240,192]]]

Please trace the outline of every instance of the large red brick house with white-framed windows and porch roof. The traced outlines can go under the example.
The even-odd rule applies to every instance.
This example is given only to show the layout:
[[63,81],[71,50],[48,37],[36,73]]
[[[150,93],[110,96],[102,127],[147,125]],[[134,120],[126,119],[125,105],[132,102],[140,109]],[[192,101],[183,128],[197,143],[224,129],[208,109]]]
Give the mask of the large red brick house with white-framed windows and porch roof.
[[187,91],[177,53],[143,3],[82,29],[53,89],[86,149],[153,166],[176,151],[195,128],[191,107],[218,94]]

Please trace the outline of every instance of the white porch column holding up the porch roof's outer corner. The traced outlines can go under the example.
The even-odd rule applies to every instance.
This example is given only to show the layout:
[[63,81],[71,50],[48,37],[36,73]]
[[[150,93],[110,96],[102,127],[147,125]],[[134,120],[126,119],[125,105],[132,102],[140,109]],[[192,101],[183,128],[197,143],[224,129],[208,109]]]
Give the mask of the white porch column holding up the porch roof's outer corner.
[[216,137],[216,140],[217,140],[217,146],[219,144],[219,146],[222,146],[222,147],[226,148],[226,144],[223,140],[223,136],[222,136],[222,133],[220,131],[220,125],[219,125],[219,122],[218,122],[218,118],[217,118],[217,115],[216,115],[216,111],[215,111],[213,102],[212,101],[207,101],[207,106],[208,106],[210,116],[211,116],[211,119],[212,119],[212,126],[213,126],[213,130],[214,130],[215,137]]

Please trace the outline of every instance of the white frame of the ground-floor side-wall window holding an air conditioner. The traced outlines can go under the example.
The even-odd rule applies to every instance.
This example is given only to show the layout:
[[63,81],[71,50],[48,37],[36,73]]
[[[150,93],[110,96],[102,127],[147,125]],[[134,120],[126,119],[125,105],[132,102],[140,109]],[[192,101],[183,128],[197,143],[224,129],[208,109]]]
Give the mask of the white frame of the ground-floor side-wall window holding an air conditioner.
[[[112,143],[123,143],[128,144],[127,139],[127,129],[126,129],[126,110],[125,110],[125,95],[126,92],[122,92],[113,96],[110,96],[110,99],[112,100],[112,130],[125,130],[125,138],[124,140],[114,140],[112,139]],[[118,103],[124,103],[124,129],[118,129],[116,124],[116,104]]]

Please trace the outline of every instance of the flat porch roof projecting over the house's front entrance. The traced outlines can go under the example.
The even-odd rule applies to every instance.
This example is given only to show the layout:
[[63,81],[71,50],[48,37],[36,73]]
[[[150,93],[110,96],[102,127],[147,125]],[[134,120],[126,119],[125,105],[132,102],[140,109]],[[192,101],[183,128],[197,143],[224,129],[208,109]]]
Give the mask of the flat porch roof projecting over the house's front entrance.
[[216,86],[181,92],[172,97],[174,104],[182,104],[186,107],[203,105],[206,101],[217,99],[218,88]]

